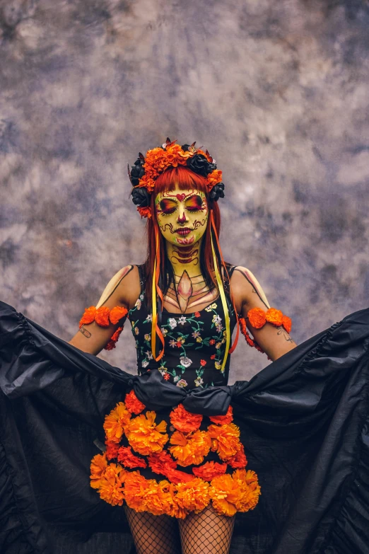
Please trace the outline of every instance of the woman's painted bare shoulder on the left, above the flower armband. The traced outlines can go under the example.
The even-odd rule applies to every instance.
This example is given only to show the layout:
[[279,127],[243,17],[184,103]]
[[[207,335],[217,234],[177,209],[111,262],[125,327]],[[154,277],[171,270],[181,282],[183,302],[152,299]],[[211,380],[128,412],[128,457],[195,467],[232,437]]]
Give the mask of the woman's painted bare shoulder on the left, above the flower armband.
[[126,308],[133,308],[141,291],[139,282],[139,270],[134,264],[122,267],[107,283],[96,308],[113,300],[113,304],[122,304]]

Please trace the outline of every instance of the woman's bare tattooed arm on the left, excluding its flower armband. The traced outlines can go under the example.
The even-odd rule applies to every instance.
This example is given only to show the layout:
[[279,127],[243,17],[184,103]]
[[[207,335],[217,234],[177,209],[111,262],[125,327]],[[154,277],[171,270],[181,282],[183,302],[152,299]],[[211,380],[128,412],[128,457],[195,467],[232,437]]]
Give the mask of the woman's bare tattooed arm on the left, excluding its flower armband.
[[[129,310],[134,307],[139,298],[140,290],[139,271],[136,265],[127,265],[110,279],[95,308],[106,306],[111,310],[119,306]],[[110,323],[107,327],[102,327],[95,321],[83,323],[76,335],[69,340],[69,344],[83,352],[96,355],[107,345],[119,325],[122,326],[122,320],[114,325]]]

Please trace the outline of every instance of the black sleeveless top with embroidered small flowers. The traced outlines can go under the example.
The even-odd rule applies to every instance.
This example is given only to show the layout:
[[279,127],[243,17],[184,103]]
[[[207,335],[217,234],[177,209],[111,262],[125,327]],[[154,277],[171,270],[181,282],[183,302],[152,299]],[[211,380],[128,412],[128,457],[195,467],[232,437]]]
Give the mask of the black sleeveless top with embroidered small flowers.
[[[158,369],[164,379],[185,390],[226,385],[230,355],[221,371],[225,354],[225,317],[221,297],[218,296],[206,308],[192,313],[171,313],[163,308],[160,330],[165,347],[163,357],[156,362],[151,354],[152,314],[146,304],[144,270],[141,265],[137,267],[141,294],[127,317],[136,342],[139,375],[150,369]],[[228,266],[227,269],[231,276],[234,266]],[[232,335],[236,317],[230,301],[228,279],[225,280],[224,290]]]

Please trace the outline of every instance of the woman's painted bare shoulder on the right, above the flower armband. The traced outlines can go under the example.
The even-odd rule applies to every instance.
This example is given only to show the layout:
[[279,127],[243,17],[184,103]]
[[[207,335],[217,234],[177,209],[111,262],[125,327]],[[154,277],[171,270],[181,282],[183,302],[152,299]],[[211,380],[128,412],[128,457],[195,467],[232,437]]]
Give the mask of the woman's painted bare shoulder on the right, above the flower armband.
[[[230,278],[230,287],[235,298],[235,303],[239,309],[245,305],[254,306],[255,300],[257,299],[264,304],[264,307],[270,307],[262,285],[248,267],[244,267],[243,265],[235,266],[232,277]],[[257,302],[257,304],[259,304],[259,302]]]

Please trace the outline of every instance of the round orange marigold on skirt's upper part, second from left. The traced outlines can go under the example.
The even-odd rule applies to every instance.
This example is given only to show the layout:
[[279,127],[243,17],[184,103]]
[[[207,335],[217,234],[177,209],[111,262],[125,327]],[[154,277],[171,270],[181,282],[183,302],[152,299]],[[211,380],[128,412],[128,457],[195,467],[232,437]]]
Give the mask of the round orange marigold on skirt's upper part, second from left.
[[166,422],[163,420],[156,425],[155,418],[156,412],[148,411],[146,415],[140,414],[131,419],[125,429],[129,444],[144,456],[152,452],[160,452],[168,441],[168,434],[165,433]]

